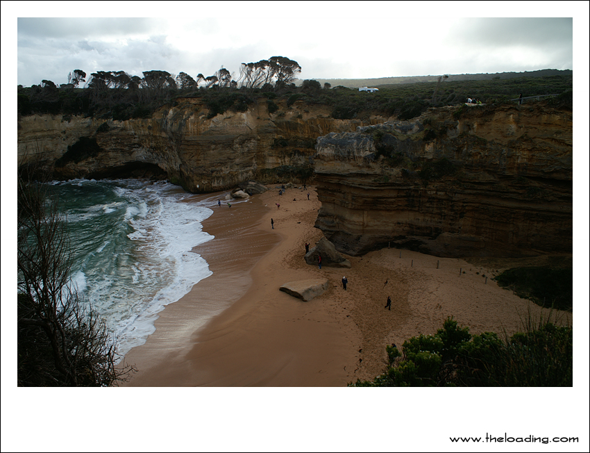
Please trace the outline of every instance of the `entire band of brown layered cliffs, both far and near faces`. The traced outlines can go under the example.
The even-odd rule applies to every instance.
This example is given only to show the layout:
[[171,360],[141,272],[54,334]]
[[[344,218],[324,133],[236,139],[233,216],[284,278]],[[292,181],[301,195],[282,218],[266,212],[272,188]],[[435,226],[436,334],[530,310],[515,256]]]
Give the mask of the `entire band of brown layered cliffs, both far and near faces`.
[[56,179],[158,176],[192,192],[286,181],[313,168],[316,227],[340,252],[571,253],[571,112],[463,106],[362,122],[277,103],[273,114],[264,102],[212,119],[199,99],[148,120],[22,117],[19,165],[36,160]]

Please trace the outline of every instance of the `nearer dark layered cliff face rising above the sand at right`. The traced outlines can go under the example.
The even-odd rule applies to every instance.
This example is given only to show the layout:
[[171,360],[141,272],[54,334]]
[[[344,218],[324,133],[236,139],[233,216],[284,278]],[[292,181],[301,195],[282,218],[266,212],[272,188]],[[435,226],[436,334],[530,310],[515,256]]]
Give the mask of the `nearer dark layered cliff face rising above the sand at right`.
[[316,148],[316,227],[341,252],[572,251],[571,112],[448,107],[330,133]]

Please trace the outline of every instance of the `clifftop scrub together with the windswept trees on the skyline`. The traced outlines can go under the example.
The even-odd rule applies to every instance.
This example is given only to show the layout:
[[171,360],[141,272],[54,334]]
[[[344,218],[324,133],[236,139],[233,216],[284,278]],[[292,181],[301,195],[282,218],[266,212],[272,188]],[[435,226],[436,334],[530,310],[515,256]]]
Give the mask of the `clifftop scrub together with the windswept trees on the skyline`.
[[[25,88],[19,85],[19,115],[72,115],[104,120],[149,118],[162,106],[174,106],[183,99],[201,99],[208,108],[208,118],[226,111],[244,112],[252,104],[267,103],[269,113],[280,115],[278,101],[287,108],[328,106],[331,117],[340,120],[368,118],[370,115],[395,116],[410,120],[430,107],[460,106],[468,98],[484,104],[505,104],[518,98],[559,94],[550,99],[559,108],[571,108],[571,72],[548,76],[521,76],[500,79],[465,80],[463,76],[439,77],[437,81],[378,85],[378,92],[359,92],[357,88],[315,80],[294,82],[301,66],[286,57],[271,57],[256,63],[242,63],[239,76],[221,67],[212,76],[199,74],[194,79],[185,72],[178,76],[167,71],[143,72],[143,77],[124,71],[97,71],[89,76],[76,69],[68,83],[56,85],[43,80],[40,85]],[[553,74],[553,73],[552,73]],[[476,76],[477,74],[474,74]],[[502,75],[502,74],[500,74]],[[82,83],[85,82],[84,85]],[[80,88],[83,86],[84,88]],[[473,114],[475,109],[457,113]]]

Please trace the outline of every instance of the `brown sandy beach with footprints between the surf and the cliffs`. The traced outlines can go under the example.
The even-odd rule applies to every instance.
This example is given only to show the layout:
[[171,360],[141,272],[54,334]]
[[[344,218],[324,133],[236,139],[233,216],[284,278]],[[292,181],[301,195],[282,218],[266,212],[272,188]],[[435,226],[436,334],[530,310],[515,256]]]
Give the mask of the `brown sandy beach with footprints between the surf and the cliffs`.
[[[315,188],[279,196],[267,187],[203,222],[215,238],[194,252],[213,274],[167,306],[155,333],[126,355],[139,370],[126,386],[346,386],[382,372],[385,345],[435,333],[448,316],[471,333],[510,335],[529,310],[548,315],[491,280],[515,261],[468,263],[392,248],[345,256],[347,270],[307,265],[305,242],[313,247],[323,237],[313,227]],[[330,288],[310,302],[279,291],[317,277]],[[202,325],[205,308],[215,316]],[[572,324],[571,313],[558,315]]]

